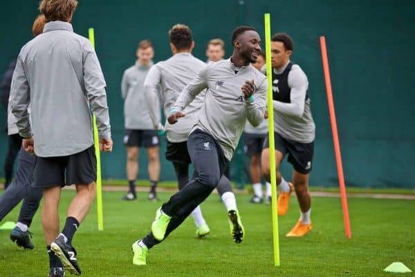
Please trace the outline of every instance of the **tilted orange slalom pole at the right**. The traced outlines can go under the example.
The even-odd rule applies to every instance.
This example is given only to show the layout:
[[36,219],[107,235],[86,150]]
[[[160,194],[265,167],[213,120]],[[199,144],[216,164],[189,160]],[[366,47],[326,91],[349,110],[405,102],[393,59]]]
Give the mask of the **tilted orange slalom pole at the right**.
[[338,168],[340,195],[342,196],[344,231],[346,232],[347,238],[351,238],[349,208],[347,207],[346,186],[344,185],[342,155],[340,153],[338,128],[337,128],[337,123],[335,120],[333,92],[331,90],[331,79],[330,79],[330,70],[329,70],[329,59],[327,58],[326,38],[324,36],[320,37],[320,46],[322,48],[323,70],[324,70],[324,79],[326,81],[327,102],[329,102],[329,113],[330,113],[331,131],[333,133],[335,162]]

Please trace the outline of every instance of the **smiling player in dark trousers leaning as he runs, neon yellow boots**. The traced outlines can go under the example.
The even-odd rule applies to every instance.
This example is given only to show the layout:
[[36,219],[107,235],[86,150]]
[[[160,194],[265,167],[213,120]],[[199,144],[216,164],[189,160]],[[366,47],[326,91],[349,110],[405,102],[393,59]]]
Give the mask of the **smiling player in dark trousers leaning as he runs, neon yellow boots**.
[[[261,39],[254,28],[239,27],[232,34],[230,59],[210,63],[188,84],[170,111],[169,124],[185,120],[185,108],[206,88],[205,102],[187,140],[194,179],[175,193],[156,212],[151,232],[133,243],[133,264],[145,265],[149,248],[164,240],[205,200],[219,182],[234,153],[243,126],[264,120],[266,77],[253,68]],[[182,119],[180,119],[183,117]],[[238,212],[228,211],[234,242],[243,240]]]

